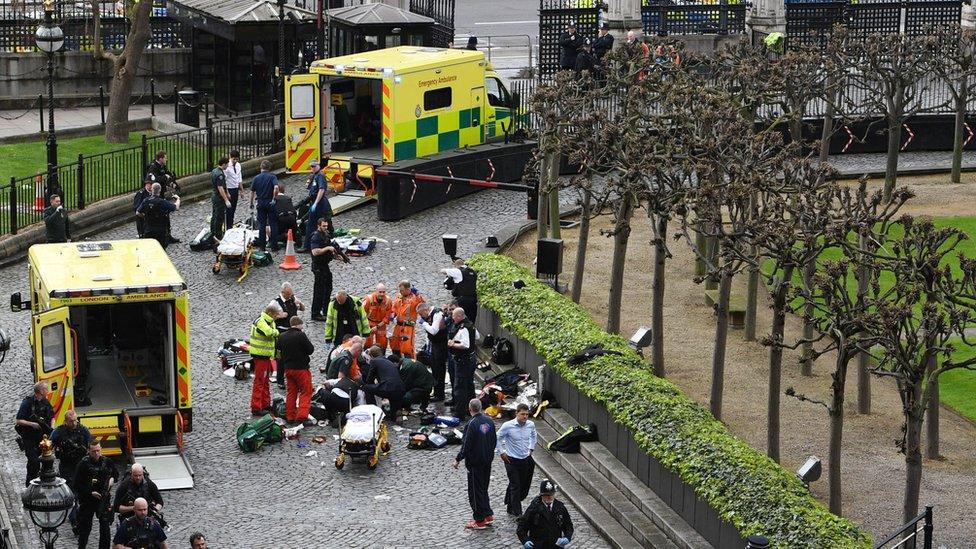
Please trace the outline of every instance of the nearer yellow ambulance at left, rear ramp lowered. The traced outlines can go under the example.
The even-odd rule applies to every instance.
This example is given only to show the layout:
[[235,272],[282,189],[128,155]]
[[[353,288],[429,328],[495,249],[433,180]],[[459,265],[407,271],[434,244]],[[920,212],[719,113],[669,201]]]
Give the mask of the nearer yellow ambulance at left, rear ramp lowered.
[[51,388],[54,424],[71,409],[103,453],[147,467],[160,489],[193,486],[189,293],[151,239],[40,244],[27,255],[31,369]]

